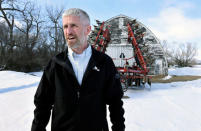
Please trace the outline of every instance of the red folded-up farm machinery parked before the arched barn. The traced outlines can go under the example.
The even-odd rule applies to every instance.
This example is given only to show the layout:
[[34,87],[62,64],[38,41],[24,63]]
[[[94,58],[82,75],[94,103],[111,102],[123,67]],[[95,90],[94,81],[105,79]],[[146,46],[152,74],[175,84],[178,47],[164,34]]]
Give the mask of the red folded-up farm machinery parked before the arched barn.
[[[105,22],[96,20],[98,26],[94,26],[94,30],[91,32],[90,38],[93,40],[92,46],[105,53],[109,42],[111,41],[110,26],[105,26]],[[124,54],[120,55],[120,58],[113,58],[113,60],[121,59],[125,61],[124,66],[116,66],[117,71],[120,74],[120,80],[123,91],[127,91],[128,87],[134,89],[144,89],[145,84],[148,83],[151,89],[151,76],[148,75],[147,64],[142,55],[142,51],[138,45],[142,42],[146,29],[140,27],[136,20],[132,20],[127,23],[128,43],[132,44],[133,56],[125,58]],[[132,65],[129,65],[128,60],[135,59]]]

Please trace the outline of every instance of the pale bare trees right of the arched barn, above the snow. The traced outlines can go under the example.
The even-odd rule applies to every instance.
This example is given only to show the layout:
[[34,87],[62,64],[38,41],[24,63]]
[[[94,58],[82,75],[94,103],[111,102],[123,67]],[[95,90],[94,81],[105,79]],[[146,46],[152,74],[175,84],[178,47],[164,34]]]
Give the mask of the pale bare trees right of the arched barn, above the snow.
[[171,43],[168,43],[167,40],[162,42],[169,66],[188,67],[196,64],[197,48],[195,44],[186,42],[175,43],[174,47],[168,47],[168,45],[171,45]]

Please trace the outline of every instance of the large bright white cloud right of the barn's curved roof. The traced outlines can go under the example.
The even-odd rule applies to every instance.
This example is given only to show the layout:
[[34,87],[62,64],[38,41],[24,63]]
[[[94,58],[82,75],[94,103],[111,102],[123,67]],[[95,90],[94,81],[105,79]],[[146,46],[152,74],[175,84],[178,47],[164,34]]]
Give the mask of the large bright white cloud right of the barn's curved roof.
[[196,58],[201,60],[201,17],[186,16],[185,10],[189,8],[193,6],[165,8],[156,17],[148,19],[149,28],[160,40],[194,44],[198,50]]

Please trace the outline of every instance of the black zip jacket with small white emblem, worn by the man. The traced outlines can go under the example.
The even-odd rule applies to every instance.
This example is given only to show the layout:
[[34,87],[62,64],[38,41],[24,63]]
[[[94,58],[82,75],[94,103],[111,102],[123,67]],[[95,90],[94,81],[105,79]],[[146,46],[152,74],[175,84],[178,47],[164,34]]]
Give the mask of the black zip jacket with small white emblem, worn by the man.
[[34,97],[31,131],[46,131],[52,111],[51,131],[124,131],[123,91],[112,59],[92,48],[92,56],[79,85],[68,51],[53,57],[46,66]]

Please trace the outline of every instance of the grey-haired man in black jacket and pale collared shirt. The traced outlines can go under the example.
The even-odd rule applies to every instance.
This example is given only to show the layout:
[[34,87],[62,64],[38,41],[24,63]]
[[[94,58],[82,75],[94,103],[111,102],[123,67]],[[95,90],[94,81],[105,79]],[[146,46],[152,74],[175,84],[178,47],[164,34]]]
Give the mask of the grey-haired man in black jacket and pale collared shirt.
[[68,49],[53,57],[44,70],[34,97],[32,131],[45,131],[52,110],[52,131],[124,131],[123,96],[112,59],[87,43],[91,31],[86,12],[72,8],[63,13]]

